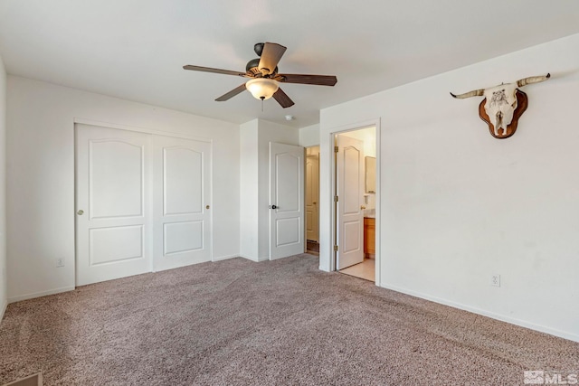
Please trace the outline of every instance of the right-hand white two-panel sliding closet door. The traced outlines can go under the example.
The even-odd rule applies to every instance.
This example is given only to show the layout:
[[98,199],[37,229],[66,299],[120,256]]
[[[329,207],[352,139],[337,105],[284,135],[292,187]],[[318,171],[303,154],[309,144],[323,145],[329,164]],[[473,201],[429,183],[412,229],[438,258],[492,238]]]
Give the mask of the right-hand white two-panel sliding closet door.
[[211,144],[153,136],[154,267],[211,260]]

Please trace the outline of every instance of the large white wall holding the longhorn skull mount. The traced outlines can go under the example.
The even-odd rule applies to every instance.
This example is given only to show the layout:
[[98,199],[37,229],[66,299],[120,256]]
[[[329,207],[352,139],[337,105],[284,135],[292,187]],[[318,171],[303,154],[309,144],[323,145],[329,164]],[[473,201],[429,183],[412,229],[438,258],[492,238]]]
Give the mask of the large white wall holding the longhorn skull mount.
[[[380,286],[579,341],[577,63],[579,34],[321,111],[322,175],[330,132],[380,122]],[[508,139],[490,136],[481,99],[449,95],[549,71]],[[320,233],[329,269],[330,221]]]

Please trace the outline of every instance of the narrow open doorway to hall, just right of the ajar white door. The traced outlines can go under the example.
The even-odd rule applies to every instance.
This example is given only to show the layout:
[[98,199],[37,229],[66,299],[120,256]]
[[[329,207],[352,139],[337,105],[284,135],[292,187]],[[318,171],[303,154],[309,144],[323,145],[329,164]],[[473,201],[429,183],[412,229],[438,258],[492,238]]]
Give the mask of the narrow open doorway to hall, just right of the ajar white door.
[[319,256],[319,146],[306,147],[306,252]]

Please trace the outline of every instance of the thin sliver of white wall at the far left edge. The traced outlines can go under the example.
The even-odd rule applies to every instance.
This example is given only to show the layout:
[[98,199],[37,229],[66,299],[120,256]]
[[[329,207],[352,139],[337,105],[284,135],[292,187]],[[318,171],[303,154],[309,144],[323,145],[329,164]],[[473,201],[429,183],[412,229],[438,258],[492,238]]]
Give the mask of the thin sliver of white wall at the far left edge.
[[6,275],[6,71],[0,57],[0,321],[8,304]]

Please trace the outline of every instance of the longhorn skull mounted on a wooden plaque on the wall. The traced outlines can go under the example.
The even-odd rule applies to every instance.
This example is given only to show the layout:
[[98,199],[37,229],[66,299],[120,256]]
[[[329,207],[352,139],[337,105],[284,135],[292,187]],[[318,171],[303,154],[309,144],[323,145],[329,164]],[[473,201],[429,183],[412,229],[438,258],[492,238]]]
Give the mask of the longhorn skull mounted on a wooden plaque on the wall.
[[518,89],[531,83],[548,80],[551,74],[523,78],[513,83],[500,84],[489,89],[473,89],[452,98],[465,99],[484,96],[479,104],[479,117],[489,125],[490,135],[498,139],[512,136],[517,131],[518,118],[527,109],[527,94]]

